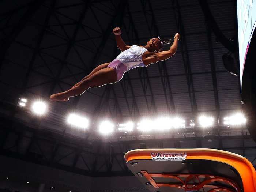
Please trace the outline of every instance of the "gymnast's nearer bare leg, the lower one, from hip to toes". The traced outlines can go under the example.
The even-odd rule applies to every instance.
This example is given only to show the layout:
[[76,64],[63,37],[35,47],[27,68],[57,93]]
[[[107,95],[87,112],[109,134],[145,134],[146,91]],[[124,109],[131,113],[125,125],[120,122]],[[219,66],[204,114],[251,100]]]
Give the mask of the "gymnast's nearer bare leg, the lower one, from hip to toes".
[[53,94],[50,96],[50,100],[53,101],[65,101],[69,97],[74,97],[81,95],[89,89],[90,87],[100,87],[105,84],[111,84],[117,82],[117,74],[113,68],[103,68],[99,71],[91,74],[89,77],[82,80],[78,85],[72,87],[71,89]]

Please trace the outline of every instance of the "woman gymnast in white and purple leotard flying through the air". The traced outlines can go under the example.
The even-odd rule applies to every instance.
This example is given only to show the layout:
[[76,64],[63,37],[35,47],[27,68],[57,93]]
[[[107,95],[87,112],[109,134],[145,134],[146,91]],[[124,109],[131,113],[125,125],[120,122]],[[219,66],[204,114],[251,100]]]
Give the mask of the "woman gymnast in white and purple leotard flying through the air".
[[178,48],[180,34],[176,33],[174,41],[169,50],[161,51],[164,41],[158,37],[151,38],[145,46],[126,45],[121,38],[121,29],[113,29],[117,47],[121,53],[110,63],[104,63],[93,69],[80,82],[69,90],[50,96],[51,101],[68,101],[69,97],[83,94],[90,87],[100,87],[120,81],[124,73],[136,67],[147,67],[151,63],[157,63],[172,57]]

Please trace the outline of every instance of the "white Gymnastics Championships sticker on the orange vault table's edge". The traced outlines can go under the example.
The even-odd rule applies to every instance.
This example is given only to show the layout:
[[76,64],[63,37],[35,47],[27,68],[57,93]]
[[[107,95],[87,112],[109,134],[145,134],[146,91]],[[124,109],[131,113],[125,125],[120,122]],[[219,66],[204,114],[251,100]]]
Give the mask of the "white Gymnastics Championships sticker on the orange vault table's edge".
[[155,161],[181,161],[186,157],[187,153],[151,153],[151,159]]

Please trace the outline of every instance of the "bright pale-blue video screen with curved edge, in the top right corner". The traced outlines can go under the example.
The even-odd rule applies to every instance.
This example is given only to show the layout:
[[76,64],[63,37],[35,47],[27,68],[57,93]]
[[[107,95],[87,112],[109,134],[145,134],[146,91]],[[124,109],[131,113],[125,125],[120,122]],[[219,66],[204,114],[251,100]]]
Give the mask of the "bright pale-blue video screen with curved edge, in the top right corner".
[[256,0],[237,0],[237,25],[239,44],[240,84],[244,63],[256,25]]

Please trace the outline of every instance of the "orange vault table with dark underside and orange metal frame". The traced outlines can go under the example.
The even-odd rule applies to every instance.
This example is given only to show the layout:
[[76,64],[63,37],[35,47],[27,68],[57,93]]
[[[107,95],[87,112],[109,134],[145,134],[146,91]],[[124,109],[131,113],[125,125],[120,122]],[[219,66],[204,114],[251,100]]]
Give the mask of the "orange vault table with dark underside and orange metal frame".
[[245,157],[214,149],[138,149],[127,166],[153,192],[256,192],[256,172]]

